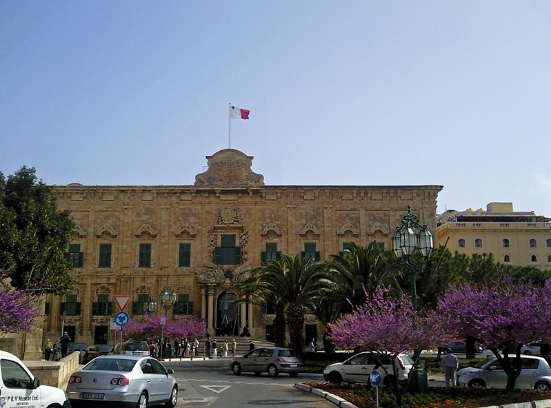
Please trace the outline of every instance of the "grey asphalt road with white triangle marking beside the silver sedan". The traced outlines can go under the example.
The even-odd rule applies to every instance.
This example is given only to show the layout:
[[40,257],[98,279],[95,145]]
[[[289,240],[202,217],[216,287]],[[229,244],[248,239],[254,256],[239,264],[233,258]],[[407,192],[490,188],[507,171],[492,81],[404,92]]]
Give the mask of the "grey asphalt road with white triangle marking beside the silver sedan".
[[287,374],[277,378],[252,373],[235,376],[230,362],[231,358],[163,362],[174,370],[180,386],[177,407],[335,407],[328,400],[294,388],[295,383],[322,382],[321,374],[299,374],[298,378]]

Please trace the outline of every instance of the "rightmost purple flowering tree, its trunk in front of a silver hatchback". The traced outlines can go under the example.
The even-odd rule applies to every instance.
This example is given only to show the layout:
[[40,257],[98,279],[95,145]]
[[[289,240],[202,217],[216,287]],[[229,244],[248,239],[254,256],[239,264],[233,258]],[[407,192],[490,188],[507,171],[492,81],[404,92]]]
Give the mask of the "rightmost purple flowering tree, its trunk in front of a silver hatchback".
[[[444,332],[472,336],[496,356],[514,389],[525,343],[551,338],[551,279],[543,287],[501,278],[491,287],[460,285],[439,302]],[[510,358],[514,354],[516,358]]]

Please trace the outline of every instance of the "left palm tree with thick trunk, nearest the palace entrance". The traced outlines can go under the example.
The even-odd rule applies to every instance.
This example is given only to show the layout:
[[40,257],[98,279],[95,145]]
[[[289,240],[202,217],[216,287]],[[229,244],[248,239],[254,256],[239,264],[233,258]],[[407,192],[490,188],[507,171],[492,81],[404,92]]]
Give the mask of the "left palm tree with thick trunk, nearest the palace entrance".
[[284,314],[291,347],[302,354],[303,309],[313,309],[317,299],[328,291],[330,282],[323,263],[314,263],[300,255],[282,254],[251,272],[248,290],[265,300],[275,301],[276,317]]

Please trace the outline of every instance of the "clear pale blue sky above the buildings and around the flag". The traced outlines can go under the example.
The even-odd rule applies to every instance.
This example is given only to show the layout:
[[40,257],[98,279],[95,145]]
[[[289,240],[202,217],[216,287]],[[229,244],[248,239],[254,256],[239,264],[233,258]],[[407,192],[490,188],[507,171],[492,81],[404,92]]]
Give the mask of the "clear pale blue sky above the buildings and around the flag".
[[192,185],[443,185],[551,216],[550,1],[0,2],[0,171]]

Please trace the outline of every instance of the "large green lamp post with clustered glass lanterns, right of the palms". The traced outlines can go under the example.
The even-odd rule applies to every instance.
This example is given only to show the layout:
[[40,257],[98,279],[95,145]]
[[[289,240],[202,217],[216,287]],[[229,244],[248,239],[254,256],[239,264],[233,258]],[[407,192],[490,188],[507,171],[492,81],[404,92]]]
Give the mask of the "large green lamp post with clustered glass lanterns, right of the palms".
[[[402,218],[401,225],[396,227],[392,236],[392,252],[410,273],[411,302],[413,309],[417,312],[417,261],[413,255],[419,250],[423,258],[429,258],[434,249],[432,234],[427,225],[419,223],[419,217],[411,212],[411,205],[408,205],[408,214]],[[410,387],[414,392],[426,392],[428,389],[428,378],[426,371],[419,365],[419,354],[421,350],[414,351],[414,367],[411,372]]]

